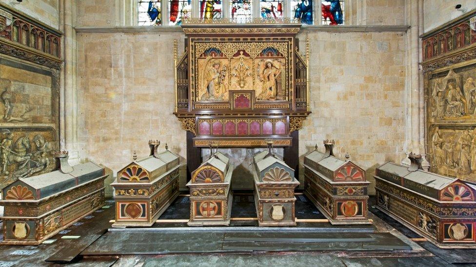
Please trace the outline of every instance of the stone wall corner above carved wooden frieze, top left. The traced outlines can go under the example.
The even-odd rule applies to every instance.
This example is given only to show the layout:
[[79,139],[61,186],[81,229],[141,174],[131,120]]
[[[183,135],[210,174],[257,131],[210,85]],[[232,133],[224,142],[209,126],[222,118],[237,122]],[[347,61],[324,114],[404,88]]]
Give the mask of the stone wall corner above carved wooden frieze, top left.
[[21,3],[16,0],[0,0],[0,3],[59,29],[59,0],[23,0]]

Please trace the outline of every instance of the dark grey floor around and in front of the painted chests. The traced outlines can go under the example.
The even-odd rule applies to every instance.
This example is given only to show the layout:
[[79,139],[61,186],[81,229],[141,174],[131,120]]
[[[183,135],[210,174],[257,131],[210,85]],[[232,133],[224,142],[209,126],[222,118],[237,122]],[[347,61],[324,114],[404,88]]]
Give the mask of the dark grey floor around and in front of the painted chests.
[[[160,231],[107,231],[114,219],[111,201],[94,217],[81,219],[51,244],[2,246],[1,266],[60,266],[46,259],[71,259],[68,266],[473,266],[475,249],[438,249],[429,242],[409,241],[418,235],[378,212],[372,204],[373,226],[332,226],[320,223],[312,232],[195,232],[187,236],[169,227],[186,224],[155,224]],[[160,219],[187,219],[189,200],[179,197]],[[305,196],[297,196],[298,218],[323,218]],[[256,217],[253,198],[237,195],[232,217]],[[237,226],[256,226],[256,221],[235,221]],[[315,223],[301,227],[317,227]],[[139,229],[136,229],[139,230]],[[353,231],[354,230],[354,231]],[[360,230],[360,231],[356,231]],[[79,236],[78,239],[62,239]],[[406,237],[405,237],[406,236]],[[112,237],[112,238],[111,238]],[[193,237],[193,238],[192,238]],[[293,242],[287,242],[294,238]],[[107,242],[106,242],[107,241]],[[296,242],[299,241],[299,242]],[[402,242],[403,241],[403,242]],[[287,243],[283,246],[282,243]],[[188,244],[188,245],[185,245]],[[286,249],[283,249],[286,247]],[[168,250],[168,251],[167,251]],[[288,250],[288,251],[283,251]],[[81,253],[82,252],[82,253]],[[138,254],[138,252],[144,254]],[[130,253],[130,254],[127,254]],[[73,257],[73,258],[71,258]]]

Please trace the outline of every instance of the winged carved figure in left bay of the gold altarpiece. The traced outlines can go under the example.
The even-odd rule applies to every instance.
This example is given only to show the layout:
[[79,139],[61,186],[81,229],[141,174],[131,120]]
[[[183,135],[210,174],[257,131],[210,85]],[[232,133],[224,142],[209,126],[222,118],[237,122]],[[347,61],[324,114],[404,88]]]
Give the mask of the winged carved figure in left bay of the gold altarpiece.
[[226,93],[226,67],[223,66],[221,69],[220,67],[219,60],[212,61],[212,57],[207,58],[202,74],[205,92],[201,95],[200,100],[223,100]]

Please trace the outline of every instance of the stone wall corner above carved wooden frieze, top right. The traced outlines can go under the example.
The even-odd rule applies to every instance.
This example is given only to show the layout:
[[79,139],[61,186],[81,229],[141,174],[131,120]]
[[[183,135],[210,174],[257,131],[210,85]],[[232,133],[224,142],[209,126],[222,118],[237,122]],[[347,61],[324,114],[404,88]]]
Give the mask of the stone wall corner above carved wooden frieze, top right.
[[423,20],[425,33],[463,15],[463,12],[455,9],[457,4],[461,4],[466,12],[476,8],[475,0],[424,0]]

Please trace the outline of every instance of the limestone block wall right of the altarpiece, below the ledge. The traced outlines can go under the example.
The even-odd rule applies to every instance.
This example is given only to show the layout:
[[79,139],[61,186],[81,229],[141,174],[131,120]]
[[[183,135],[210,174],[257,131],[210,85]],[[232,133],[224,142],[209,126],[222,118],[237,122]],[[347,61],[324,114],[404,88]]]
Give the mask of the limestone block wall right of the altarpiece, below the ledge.
[[300,160],[316,142],[323,151],[322,140],[335,139],[336,156],[349,153],[373,181],[375,167],[405,153],[405,34],[308,36],[312,114],[299,131]]

